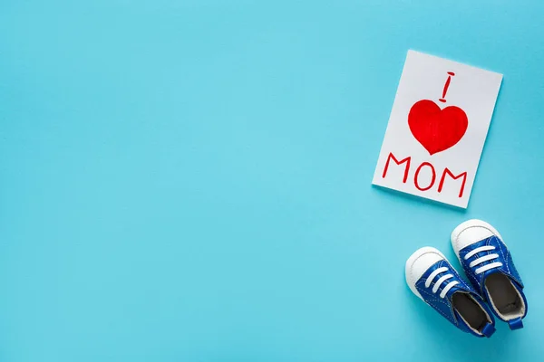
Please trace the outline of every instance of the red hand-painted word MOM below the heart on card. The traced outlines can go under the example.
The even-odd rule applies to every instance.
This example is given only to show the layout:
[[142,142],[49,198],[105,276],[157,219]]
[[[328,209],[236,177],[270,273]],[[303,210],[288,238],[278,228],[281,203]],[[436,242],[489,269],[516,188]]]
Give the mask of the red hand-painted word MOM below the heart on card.
[[[406,157],[401,159],[400,161],[397,159],[397,157],[394,157],[393,153],[390,152],[389,156],[387,156],[387,161],[385,161],[385,167],[384,167],[384,173],[382,174],[382,178],[385,178],[387,176],[387,170],[389,169],[390,163],[393,161],[393,163],[398,167],[404,167],[404,174],[403,174],[403,184],[408,182],[408,178],[411,176],[411,165],[412,163],[412,157]],[[392,164],[393,165],[393,164]],[[422,179],[423,177],[420,176],[420,174],[423,172],[430,172],[431,173],[431,179]],[[419,165],[417,168],[415,168],[415,172],[413,172],[413,186],[417,188],[420,191],[428,191],[432,189],[432,186],[436,184],[436,168],[432,166],[432,163],[430,162],[423,162],[421,165]],[[459,175],[453,175],[452,171],[445,167],[442,170],[442,176],[440,176],[440,181],[438,182],[438,192],[441,193],[442,189],[444,188],[444,183],[446,181],[446,177],[451,178],[452,180],[458,180],[461,178],[461,187],[459,189],[459,197],[462,197],[462,194],[464,192],[464,187],[467,182],[467,173],[462,172]],[[428,178],[428,177],[425,177]],[[451,183],[449,183],[451,185]]]

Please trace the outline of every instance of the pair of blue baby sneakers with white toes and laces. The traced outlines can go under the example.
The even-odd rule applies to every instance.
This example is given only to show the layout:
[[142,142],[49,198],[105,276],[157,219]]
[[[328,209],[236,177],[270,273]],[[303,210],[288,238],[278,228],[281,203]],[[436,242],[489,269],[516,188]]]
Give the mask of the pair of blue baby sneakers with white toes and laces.
[[406,282],[413,293],[458,329],[478,337],[495,332],[493,314],[510,329],[523,328],[523,283],[500,233],[481,220],[470,220],[453,230],[452,247],[471,285],[442,252],[424,247],[406,262]]

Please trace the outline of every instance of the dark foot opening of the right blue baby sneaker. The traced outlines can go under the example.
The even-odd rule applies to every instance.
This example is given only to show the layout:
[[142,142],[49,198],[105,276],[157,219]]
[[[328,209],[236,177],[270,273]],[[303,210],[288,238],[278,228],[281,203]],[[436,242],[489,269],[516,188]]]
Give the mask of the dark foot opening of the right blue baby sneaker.
[[491,274],[485,280],[493,310],[504,320],[523,317],[525,303],[510,278],[501,273]]

